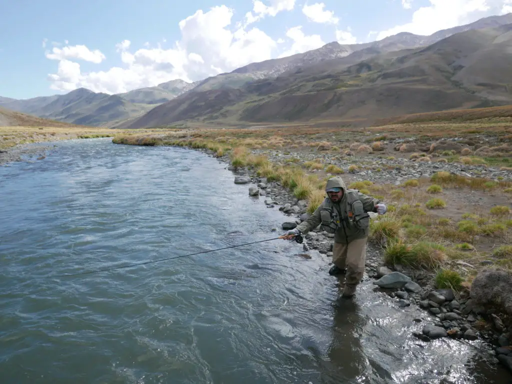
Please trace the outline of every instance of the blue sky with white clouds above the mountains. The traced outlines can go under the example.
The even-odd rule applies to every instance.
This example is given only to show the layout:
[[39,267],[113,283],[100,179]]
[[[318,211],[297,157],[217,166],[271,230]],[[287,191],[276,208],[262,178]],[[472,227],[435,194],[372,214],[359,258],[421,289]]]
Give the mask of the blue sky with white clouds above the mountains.
[[430,35],[512,0],[16,0],[0,5],[0,96],[188,82],[324,44]]

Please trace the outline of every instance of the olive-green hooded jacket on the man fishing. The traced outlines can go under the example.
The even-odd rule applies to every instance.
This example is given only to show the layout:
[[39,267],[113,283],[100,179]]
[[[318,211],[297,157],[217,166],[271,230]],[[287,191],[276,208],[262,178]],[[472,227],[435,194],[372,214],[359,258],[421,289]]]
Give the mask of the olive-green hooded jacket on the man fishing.
[[334,233],[335,242],[343,244],[367,237],[370,226],[368,212],[376,212],[375,206],[380,200],[358,190],[347,189],[339,176],[330,178],[325,189],[327,191],[335,187],[343,190],[342,198],[338,202],[332,202],[326,197],[315,212],[297,226],[297,229],[306,234],[322,225],[323,230]]

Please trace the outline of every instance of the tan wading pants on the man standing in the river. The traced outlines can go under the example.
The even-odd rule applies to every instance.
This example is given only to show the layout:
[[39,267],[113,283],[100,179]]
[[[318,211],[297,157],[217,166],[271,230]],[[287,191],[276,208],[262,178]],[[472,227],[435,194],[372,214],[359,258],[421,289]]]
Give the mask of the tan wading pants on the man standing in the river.
[[365,272],[366,242],[368,238],[352,240],[348,244],[334,242],[332,262],[340,269],[347,268],[346,285],[357,285]]

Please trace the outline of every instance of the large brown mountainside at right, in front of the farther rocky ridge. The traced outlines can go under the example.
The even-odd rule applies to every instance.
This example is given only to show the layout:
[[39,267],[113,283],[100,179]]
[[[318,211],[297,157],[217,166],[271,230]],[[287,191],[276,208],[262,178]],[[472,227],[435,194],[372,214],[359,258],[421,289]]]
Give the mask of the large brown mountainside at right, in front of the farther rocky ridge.
[[[512,25],[462,32],[431,46],[350,56],[238,89],[190,92],[130,128],[182,122],[362,121],[512,104]],[[505,53],[504,53],[505,52]],[[364,57],[364,56],[361,56]],[[494,63],[500,64],[494,64]]]

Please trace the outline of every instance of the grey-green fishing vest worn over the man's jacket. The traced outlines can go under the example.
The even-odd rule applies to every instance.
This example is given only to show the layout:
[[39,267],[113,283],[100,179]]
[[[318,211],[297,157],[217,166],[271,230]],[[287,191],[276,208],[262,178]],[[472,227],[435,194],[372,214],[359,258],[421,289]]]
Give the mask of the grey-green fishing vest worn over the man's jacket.
[[[327,233],[335,233],[340,227],[344,227],[342,222],[349,225],[349,228],[364,229],[368,228],[370,224],[370,215],[362,206],[361,200],[357,196],[357,192],[352,189],[345,190],[346,209],[343,214],[347,216],[339,217],[339,213],[334,207],[332,201],[327,197],[324,201],[323,207],[320,209],[320,218],[322,219],[321,228]],[[345,227],[344,227],[345,229]],[[345,231],[347,231],[345,229]]]

